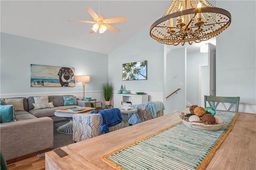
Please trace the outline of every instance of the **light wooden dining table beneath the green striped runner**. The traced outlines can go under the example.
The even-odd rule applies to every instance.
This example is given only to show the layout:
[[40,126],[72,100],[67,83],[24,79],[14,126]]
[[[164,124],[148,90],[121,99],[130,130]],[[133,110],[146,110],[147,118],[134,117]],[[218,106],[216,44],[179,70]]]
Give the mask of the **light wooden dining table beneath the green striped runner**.
[[[182,112],[189,113],[189,109]],[[216,150],[206,170],[256,170],[256,114],[239,113],[234,127]],[[178,113],[164,115],[45,154],[46,170],[113,169],[101,157],[180,122]]]

